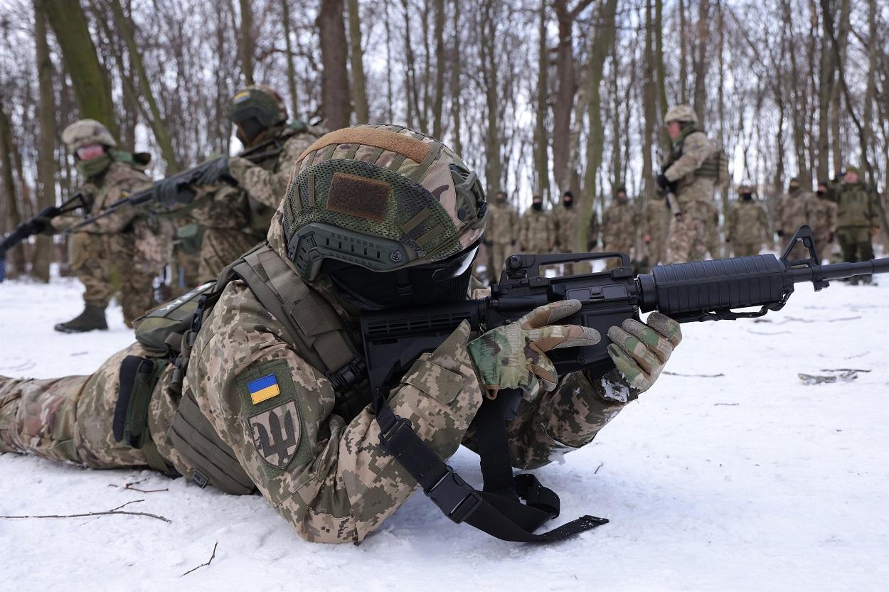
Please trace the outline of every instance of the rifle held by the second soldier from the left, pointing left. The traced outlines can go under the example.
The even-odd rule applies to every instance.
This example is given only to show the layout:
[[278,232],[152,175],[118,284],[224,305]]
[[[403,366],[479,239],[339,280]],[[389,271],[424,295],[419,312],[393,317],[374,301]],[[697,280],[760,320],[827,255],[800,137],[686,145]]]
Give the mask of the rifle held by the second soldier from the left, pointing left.
[[[277,156],[281,154],[281,151],[283,149],[284,146],[282,145],[281,140],[278,138],[272,138],[262,142],[257,146],[254,146],[253,148],[250,148],[249,150],[245,150],[238,156],[246,158],[252,163],[258,163],[262,160],[265,160],[266,158],[270,158],[271,156]],[[216,176],[216,178],[212,181],[213,183],[223,181],[225,183],[228,183],[229,185],[237,185],[237,181],[228,174],[228,164],[223,162],[223,160],[226,158],[226,156],[212,158],[202,164],[198,164],[194,168],[188,169],[188,171],[177,172],[176,174],[166,177],[162,180],[155,181],[151,185],[151,187],[141,189],[140,191],[136,191],[132,194],[129,194],[128,196],[118,199],[113,204],[109,204],[108,207],[100,214],[84,220],[83,222],[80,222],[79,224],[76,224],[71,228],[68,228],[66,232],[76,232],[77,230],[80,230],[81,228],[92,224],[96,220],[101,220],[106,216],[110,216],[111,214],[125,206],[139,206],[148,204],[150,202],[159,201],[157,199],[156,188],[162,185],[165,188],[170,188],[172,193],[172,195],[167,196],[164,200],[164,206],[173,207],[177,204],[190,204],[197,195],[192,186],[201,183],[201,180],[204,179],[204,175],[216,168],[224,168],[225,172],[222,172],[220,175]]]

